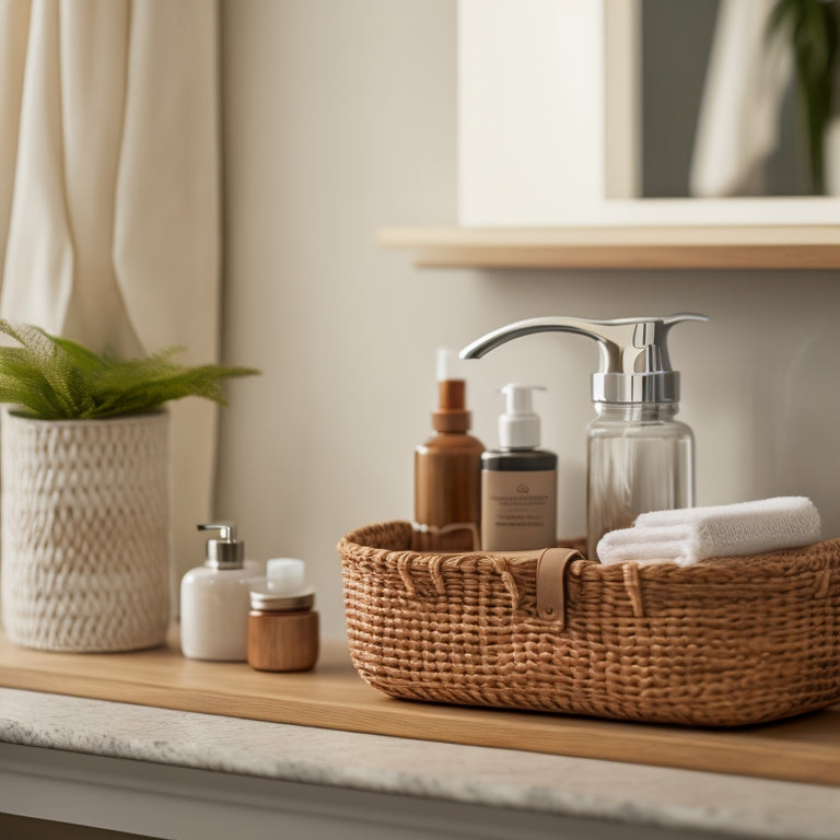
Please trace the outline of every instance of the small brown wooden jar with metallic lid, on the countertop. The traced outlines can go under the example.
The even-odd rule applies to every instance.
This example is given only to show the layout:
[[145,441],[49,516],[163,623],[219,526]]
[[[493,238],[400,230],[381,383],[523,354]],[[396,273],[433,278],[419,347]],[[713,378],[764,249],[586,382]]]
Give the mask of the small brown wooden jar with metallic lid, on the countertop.
[[[269,561],[269,564],[272,561]],[[250,591],[248,664],[257,670],[310,670],[318,658],[315,593],[268,583]]]

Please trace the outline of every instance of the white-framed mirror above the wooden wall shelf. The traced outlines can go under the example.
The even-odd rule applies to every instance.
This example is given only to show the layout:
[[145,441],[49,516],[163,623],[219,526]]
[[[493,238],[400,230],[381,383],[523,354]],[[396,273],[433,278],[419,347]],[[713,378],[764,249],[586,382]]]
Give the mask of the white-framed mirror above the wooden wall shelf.
[[816,0],[459,0],[458,223],[836,224],[840,109],[810,196],[778,2]]

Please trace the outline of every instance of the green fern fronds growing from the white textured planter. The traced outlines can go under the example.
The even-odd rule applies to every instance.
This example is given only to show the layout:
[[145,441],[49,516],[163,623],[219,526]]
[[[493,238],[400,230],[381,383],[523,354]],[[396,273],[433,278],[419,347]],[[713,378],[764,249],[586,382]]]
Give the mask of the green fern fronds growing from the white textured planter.
[[221,381],[259,373],[254,368],[175,361],[179,348],[144,359],[102,355],[30,324],[0,318],[0,332],[20,347],[0,347],[0,402],[38,420],[86,420],[152,411],[196,396],[226,405]]

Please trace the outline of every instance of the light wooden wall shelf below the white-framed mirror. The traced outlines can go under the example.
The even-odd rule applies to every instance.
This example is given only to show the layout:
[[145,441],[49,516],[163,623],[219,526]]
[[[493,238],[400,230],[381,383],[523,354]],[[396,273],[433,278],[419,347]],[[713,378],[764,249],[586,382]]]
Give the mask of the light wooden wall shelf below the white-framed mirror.
[[436,268],[840,268],[840,224],[385,228],[378,241]]

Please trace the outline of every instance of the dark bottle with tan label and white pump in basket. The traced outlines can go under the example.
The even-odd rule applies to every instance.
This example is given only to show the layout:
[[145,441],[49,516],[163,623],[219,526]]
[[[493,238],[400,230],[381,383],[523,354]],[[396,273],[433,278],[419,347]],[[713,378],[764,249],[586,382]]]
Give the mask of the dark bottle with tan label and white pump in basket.
[[501,393],[499,448],[481,456],[481,548],[527,551],[557,542],[557,455],[539,446],[538,385],[512,382]]

